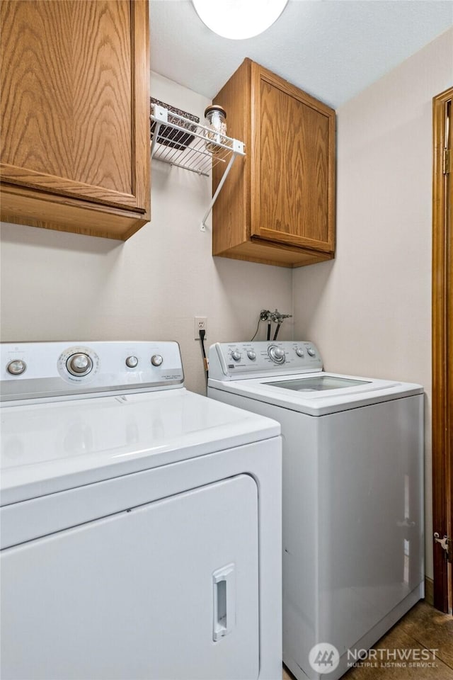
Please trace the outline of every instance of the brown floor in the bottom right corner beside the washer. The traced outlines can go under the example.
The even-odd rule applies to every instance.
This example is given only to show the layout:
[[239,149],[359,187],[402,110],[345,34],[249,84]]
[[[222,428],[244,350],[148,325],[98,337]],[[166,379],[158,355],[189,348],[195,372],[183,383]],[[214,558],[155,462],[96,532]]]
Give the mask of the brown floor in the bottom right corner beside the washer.
[[[409,659],[406,667],[356,667],[350,669],[343,680],[453,680],[453,617],[442,614],[423,600],[408,611],[374,647],[379,650],[437,650],[435,659],[430,658],[428,661],[435,665],[409,667],[407,664],[417,662],[417,654],[419,659],[423,658],[422,652],[412,652],[413,658]],[[383,663],[391,661],[385,659]],[[323,677],[328,680],[328,675]],[[283,667],[283,680],[293,678]]]

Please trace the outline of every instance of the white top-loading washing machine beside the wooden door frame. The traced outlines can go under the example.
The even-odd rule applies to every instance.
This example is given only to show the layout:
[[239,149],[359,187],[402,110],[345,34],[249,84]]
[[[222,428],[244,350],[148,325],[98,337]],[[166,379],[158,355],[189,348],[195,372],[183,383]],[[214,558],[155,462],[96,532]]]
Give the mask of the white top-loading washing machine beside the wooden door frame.
[[240,342],[210,348],[208,395],[282,425],[283,660],[336,680],[423,597],[423,388]]

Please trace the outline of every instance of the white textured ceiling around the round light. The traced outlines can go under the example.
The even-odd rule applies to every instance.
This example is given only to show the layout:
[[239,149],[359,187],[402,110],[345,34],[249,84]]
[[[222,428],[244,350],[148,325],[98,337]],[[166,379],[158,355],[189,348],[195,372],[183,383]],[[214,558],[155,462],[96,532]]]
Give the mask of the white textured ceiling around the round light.
[[212,33],[190,0],[151,0],[150,22],[153,71],[199,94],[212,98],[251,57],[338,108],[452,26],[453,1],[289,0],[248,40]]

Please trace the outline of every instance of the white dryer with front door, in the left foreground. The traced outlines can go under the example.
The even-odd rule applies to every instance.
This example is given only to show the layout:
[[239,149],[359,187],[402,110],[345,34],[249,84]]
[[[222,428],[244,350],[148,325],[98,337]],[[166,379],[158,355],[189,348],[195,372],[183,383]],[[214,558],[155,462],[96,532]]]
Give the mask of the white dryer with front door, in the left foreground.
[[281,678],[280,425],[171,342],[1,345],[1,678]]

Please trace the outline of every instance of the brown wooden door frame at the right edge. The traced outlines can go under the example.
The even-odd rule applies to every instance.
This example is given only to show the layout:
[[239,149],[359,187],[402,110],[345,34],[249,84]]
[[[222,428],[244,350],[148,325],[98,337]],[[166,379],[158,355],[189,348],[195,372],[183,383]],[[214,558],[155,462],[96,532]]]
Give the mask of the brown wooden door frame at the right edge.
[[[453,226],[451,167],[453,88],[432,100],[432,520],[433,531],[453,538]],[[448,135],[448,139],[447,139]],[[450,156],[452,152],[450,152]],[[450,162],[451,166],[452,162]],[[448,213],[447,213],[448,210]],[[450,555],[452,545],[449,544]],[[452,563],[433,540],[434,605],[452,611]]]

